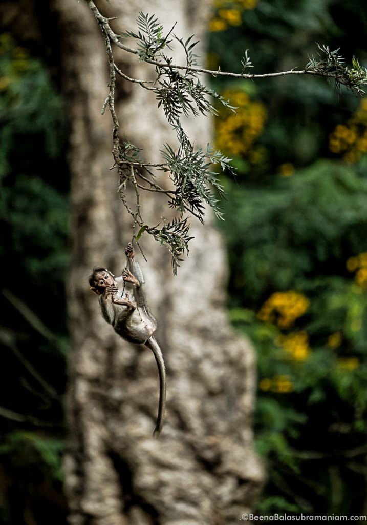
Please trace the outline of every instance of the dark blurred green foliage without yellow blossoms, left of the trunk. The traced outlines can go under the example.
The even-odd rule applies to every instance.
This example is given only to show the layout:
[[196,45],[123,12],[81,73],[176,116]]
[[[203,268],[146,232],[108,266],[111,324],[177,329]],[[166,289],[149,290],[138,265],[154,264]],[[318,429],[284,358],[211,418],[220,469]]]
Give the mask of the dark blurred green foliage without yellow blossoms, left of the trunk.
[[44,512],[61,523],[67,122],[45,65],[7,33],[0,34],[0,123],[0,521],[38,522]]

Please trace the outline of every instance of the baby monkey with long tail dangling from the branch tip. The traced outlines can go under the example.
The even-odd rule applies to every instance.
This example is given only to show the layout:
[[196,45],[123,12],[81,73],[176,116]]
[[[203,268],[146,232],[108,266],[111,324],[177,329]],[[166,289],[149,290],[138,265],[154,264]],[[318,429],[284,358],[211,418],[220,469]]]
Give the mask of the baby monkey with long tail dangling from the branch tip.
[[[144,278],[131,243],[125,249],[127,267],[121,277],[105,268],[94,268],[89,278],[91,290],[99,296],[102,316],[115,332],[129,343],[143,343],[153,351],[159,373],[159,405],[154,436],[163,426],[166,406],[166,370],[162,352],[153,333],[157,322],[150,313],[143,292]],[[116,298],[117,297],[117,298]]]

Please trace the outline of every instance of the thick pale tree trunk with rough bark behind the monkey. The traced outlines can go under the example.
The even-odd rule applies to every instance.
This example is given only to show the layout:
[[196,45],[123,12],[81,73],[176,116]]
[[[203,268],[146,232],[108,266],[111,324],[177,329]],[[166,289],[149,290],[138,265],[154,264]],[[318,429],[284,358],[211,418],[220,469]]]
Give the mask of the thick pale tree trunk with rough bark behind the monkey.
[[[146,293],[158,320],[157,340],[167,363],[166,422],[152,437],[158,401],[153,354],[118,338],[101,318],[88,287],[91,268],[118,274],[131,222],[116,192],[112,123],[101,116],[107,65],[98,24],[81,0],[52,0],[71,124],[69,162],[72,260],[68,302],[72,353],[66,397],[69,446],[66,493],[72,525],[232,524],[254,505],[264,471],[253,445],[254,351],[233,332],[225,312],[228,269],[223,239],[211,213],[204,226],[191,219],[190,257],[172,276],[164,248],[142,238]],[[135,29],[136,17],[155,13],[177,35],[202,40],[208,0],[100,2],[116,29]],[[56,30],[56,28],[55,28]],[[201,48],[201,55],[204,54]],[[115,50],[129,76],[152,78],[135,56]],[[120,83],[116,104],[121,131],[149,161],[175,135],[151,93]],[[185,129],[196,144],[210,141],[211,122]],[[160,181],[164,184],[163,181]],[[143,215],[157,224],[169,216],[164,201],[143,198]]]

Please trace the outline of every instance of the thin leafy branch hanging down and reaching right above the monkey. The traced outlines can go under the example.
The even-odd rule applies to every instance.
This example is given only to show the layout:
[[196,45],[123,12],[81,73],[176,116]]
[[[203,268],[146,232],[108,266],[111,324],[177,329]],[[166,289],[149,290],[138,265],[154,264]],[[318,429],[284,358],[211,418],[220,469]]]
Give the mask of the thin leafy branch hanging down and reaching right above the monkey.
[[[208,204],[215,215],[222,218],[218,204],[223,195],[223,187],[219,183],[217,172],[213,171],[213,165],[219,165],[222,170],[233,172],[231,159],[226,158],[220,151],[214,151],[210,144],[206,150],[196,148],[181,125],[182,115],[196,117],[200,113],[203,115],[217,114],[217,110],[210,102],[212,99],[218,100],[223,106],[235,112],[236,108],[230,105],[229,100],[201,83],[199,78],[201,74],[242,79],[263,79],[285,75],[320,76],[325,77],[328,81],[333,80],[338,90],[341,86],[346,86],[355,95],[364,95],[362,86],[367,83],[367,70],[362,68],[355,58],[352,62],[353,68],[348,69],[344,65],[343,57],[338,54],[339,49],[331,51],[329,47],[318,45],[317,57],[309,57],[309,62],[304,70],[290,69],[266,74],[246,72],[253,67],[246,50],[241,59],[241,73],[213,71],[198,65],[198,57],[193,52],[198,43],[193,41],[193,36],[185,41],[177,37],[173,33],[175,26],[169,30],[167,35],[164,35],[163,26],[159,24],[154,15],[140,13],[137,18],[137,33],[125,31],[117,35],[110,27],[111,18],[102,16],[93,0],[87,0],[87,3],[101,28],[109,64],[109,95],[103,103],[102,114],[108,106],[113,121],[114,165],[112,168],[117,169],[118,192],[127,212],[133,218],[133,238],[138,240],[146,232],[160,244],[166,245],[172,256],[175,274],[179,262],[182,261],[182,255],[185,252],[189,253],[188,243],[192,239],[188,233],[189,225],[185,214],[189,213],[203,223],[204,205]],[[135,39],[137,48],[124,45],[121,40],[125,37]],[[167,50],[171,50],[170,45],[173,41],[184,49],[186,64],[173,64],[172,57],[165,54]],[[155,80],[152,82],[131,78],[121,71],[114,62],[111,42],[127,53],[137,55],[140,61],[154,66]],[[176,131],[178,147],[172,148],[169,144],[164,144],[161,150],[163,162],[158,164],[144,162],[139,148],[127,140],[120,139],[118,134],[120,125],[114,107],[116,75],[153,91],[158,108],[160,106],[163,108],[168,123]],[[158,185],[154,181],[153,169],[169,173],[174,189],[167,190]],[[127,184],[131,185],[134,190],[135,204],[133,206],[127,202],[125,194]],[[168,206],[176,211],[177,217],[171,223],[163,218],[163,223],[154,227],[144,224],[140,209],[140,190],[165,194],[168,198]],[[140,228],[137,234],[135,234],[136,227]]]

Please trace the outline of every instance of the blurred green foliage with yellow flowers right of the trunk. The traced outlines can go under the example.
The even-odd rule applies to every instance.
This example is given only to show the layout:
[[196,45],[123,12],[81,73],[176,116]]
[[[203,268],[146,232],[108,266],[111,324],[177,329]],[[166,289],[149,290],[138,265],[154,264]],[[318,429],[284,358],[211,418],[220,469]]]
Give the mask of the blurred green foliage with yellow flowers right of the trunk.
[[[340,0],[217,0],[208,66],[304,69],[316,42],[367,65],[367,7]],[[232,321],[258,359],[259,514],[363,514],[367,479],[366,103],[318,78],[213,80],[232,91],[217,142]],[[233,119],[233,120],[230,120]],[[237,120],[236,120],[237,119]],[[235,210],[235,212],[234,212]]]

